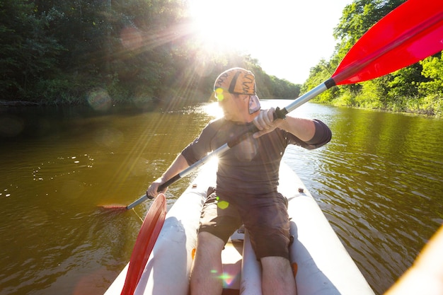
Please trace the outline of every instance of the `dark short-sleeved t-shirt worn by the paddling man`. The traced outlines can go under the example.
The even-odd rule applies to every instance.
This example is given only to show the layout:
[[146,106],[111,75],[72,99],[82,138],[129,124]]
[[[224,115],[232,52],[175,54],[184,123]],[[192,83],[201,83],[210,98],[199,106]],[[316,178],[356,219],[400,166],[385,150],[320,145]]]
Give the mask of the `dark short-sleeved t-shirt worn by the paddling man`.
[[[217,193],[267,195],[277,192],[280,160],[288,144],[316,149],[330,141],[328,126],[314,120],[316,132],[310,141],[276,128],[258,139],[247,137],[219,155]],[[224,118],[209,122],[195,141],[182,151],[189,165],[245,132],[253,123],[238,124]]]

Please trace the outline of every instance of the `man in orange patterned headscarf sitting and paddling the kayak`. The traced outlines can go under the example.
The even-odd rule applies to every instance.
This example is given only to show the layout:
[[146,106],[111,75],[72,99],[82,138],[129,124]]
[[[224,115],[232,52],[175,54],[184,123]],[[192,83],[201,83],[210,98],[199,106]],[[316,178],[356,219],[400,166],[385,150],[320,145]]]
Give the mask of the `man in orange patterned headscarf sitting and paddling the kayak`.
[[255,77],[246,69],[220,74],[214,97],[224,117],[209,122],[146,193],[155,197],[159,185],[255,125],[259,131],[253,137],[219,156],[217,187],[208,192],[200,218],[191,294],[222,294],[222,249],[242,224],[263,267],[263,294],[297,294],[289,264],[287,199],[277,192],[278,171],[289,144],[316,149],[330,141],[330,129],[319,120],[289,115],[274,120],[274,108],[261,110]]

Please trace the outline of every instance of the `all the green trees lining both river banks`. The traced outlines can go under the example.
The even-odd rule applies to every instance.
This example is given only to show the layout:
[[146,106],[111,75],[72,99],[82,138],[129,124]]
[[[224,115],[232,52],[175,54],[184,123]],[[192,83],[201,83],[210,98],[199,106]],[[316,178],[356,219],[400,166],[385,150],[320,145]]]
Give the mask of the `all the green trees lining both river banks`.
[[[86,103],[90,93],[113,102],[195,103],[209,99],[220,72],[243,66],[254,72],[260,98],[295,98],[329,79],[359,37],[404,1],[347,5],[333,56],[313,66],[301,86],[266,74],[249,55],[203,50],[188,30],[186,1],[3,0],[0,95],[44,104]],[[372,81],[331,88],[316,101],[442,115],[442,94],[439,53]]]

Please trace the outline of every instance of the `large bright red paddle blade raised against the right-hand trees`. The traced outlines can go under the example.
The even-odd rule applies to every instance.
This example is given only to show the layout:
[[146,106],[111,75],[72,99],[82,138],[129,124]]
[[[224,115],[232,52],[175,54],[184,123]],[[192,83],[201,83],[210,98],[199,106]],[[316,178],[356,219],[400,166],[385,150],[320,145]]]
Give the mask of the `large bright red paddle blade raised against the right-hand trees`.
[[384,76],[443,50],[443,1],[408,0],[367,31],[347,52],[335,85]]

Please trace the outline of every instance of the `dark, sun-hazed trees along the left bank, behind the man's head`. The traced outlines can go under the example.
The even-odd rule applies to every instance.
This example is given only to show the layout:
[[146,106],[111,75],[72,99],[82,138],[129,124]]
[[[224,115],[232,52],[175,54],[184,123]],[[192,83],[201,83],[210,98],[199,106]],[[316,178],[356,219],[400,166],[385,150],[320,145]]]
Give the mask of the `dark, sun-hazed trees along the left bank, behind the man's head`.
[[229,66],[253,70],[263,98],[299,96],[249,56],[203,52],[186,13],[181,0],[0,1],[1,99],[193,103]]

